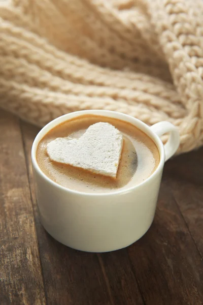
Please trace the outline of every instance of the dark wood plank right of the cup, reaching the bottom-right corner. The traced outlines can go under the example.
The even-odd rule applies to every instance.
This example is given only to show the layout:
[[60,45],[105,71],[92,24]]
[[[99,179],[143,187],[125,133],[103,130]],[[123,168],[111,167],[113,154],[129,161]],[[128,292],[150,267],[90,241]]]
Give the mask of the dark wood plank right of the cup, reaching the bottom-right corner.
[[155,220],[128,248],[146,304],[195,304],[203,300],[203,262],[164,172]]

